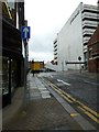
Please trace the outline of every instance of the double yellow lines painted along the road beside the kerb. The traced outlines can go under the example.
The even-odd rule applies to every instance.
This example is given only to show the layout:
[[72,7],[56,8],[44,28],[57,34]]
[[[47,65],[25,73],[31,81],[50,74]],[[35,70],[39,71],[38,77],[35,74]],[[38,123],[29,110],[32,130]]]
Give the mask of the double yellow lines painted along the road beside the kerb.
[[76,100],[73,98],[70,95],[66,94],[64,90],[48,81],[48,85],[57,91],[64,99],[66,99],[69,103],[77,103],[77,108],[80,109],[85,114],[87,114],[89,118],[91,118],[95,122],[99,123],[99,113],[96,111],[91,110],[89,107],[86,105],[81,103],[80,101]]

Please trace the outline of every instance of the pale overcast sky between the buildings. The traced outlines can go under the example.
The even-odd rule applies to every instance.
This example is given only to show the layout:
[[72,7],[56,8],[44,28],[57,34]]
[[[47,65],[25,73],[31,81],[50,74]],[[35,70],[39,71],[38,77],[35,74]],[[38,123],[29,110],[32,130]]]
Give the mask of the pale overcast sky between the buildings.
[[53,41],[80,2],[97,6],[97,0],[24,0],[25,19],[31,26],[29,59],[54,58]]

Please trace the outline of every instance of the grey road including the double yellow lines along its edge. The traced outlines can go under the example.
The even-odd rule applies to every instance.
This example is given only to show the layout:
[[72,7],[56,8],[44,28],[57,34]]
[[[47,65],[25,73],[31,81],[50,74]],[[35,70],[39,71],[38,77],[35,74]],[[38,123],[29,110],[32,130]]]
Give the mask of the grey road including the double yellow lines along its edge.
[[68,101],[80,114],[94,125],[99,123],[98,78],[92,74],[59,72],[43,74],[54,90]]

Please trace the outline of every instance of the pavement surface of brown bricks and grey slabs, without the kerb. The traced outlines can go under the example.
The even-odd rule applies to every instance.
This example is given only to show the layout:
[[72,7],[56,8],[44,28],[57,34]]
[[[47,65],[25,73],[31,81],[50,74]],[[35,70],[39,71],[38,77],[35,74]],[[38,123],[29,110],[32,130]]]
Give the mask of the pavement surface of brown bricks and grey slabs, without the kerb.
[[26,96],[26,111],[20,111],[9,122],[3,123],[3,130],[81,130],[42,79],[30,74],[28,80],[30,92]]

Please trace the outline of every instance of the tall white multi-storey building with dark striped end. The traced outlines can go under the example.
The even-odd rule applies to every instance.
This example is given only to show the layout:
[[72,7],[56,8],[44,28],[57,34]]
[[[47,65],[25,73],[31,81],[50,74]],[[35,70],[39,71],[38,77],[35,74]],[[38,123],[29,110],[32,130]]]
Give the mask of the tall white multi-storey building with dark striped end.
[[[58,70],[88,67],[88,41],[97,29],[97,6],[80,4],[54,41],[54,64]],[[80,59],[79,59],[80,58]]]

